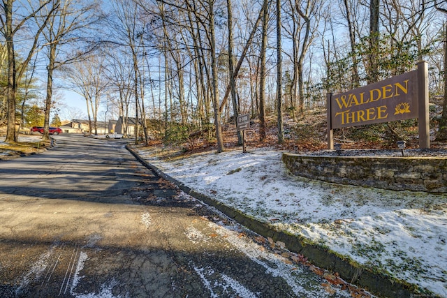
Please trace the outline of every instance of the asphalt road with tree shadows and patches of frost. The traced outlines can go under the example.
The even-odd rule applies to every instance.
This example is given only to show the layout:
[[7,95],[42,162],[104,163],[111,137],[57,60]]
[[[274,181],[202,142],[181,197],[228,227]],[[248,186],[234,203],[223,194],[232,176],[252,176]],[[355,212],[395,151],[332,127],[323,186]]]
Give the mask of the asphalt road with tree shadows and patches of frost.
[[0,297],[351,297],[156,177],[123,140],[55,139],[0,161]]

